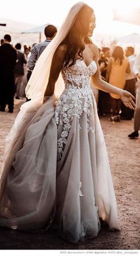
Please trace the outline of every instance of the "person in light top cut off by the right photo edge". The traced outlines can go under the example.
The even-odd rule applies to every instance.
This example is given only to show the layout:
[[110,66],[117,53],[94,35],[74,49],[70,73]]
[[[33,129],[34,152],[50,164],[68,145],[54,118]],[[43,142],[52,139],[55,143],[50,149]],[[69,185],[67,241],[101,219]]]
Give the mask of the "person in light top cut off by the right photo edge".
[[140,54],[136,58],[135,63],[133,64],[133,72],[138,78],[136,83],[136,110],[134,113],[134,132],[128,135],[129,138],[136,138],[139,136],[140,129]]

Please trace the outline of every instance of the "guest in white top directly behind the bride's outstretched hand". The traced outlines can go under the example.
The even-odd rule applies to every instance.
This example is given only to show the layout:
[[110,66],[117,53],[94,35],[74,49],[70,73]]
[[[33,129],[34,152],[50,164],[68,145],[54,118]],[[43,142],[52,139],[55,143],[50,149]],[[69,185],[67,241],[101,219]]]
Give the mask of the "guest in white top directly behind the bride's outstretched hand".
[[[135,96],[135,83],[136,83],[136,76],[135,73],[133,73],[133,64],[135,63],[136,57],[134,55],[134,48],[133,47],[127,47],[125,52],[126,57],[128,58],[128,61],[130,63],[131,72],[128,74],[126,73],[126,83],[124,90],[128,90],[128,92],[131,92],[133,96]],[[121,111],[120,114],[121,119],[123,120],[131,120],[133,118],[134,111],[130,108],[125,107],[124,104],[121,105]]]

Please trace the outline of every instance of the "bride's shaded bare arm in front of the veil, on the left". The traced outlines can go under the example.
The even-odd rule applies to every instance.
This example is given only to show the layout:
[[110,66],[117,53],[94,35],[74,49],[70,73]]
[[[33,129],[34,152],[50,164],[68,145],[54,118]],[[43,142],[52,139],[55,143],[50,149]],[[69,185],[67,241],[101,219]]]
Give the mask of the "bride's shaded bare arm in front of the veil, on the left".
[[49,96],[53,95],[55,90],[55,83],[58,80],[59,73],[61,72],[61,68],[63,65],[63,61],[65,60],[66,54],[66,45],[59,45],[58,49],[56,49],[55,54],[53,55],[52,64],[50,68],[49,81],[47,83],[47,88],[44,92],[44,97],[49,98]]

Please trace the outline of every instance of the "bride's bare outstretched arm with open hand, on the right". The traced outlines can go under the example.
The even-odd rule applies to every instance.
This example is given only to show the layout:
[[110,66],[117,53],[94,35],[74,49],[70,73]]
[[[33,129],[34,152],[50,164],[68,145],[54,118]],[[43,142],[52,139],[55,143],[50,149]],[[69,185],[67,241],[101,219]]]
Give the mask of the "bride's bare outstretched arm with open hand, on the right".
[[135,100],[135,97],[133,97],[131,93],[129,93],[127,90],[116,88],[115,86],[110,85],[110,83],[107,83],[104,80],[100,79],[98,68],[98,48],[96,45],[91,45],[91,49],[93,51],[94,61],[96,61],[97,64],[97,71],[91,77],[91,83],[93,84],[93,86],[96,86],[96,88],[103,90],[104,92],[120,95],[120,99],[122,99],[123,104],[125,104],[126,107],[134,110],[136,105],[132,99]]

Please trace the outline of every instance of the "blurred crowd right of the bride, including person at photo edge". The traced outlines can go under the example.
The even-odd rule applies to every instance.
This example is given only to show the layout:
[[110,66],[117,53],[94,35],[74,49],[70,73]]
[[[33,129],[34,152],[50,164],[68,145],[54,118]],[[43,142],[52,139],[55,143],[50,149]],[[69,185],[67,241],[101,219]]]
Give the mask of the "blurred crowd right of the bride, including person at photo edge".
[[132,120],[134,117],[134,132],[129,138],[139,136],[140,129],[140,54],[135,55],[132,46],[125,51],[120,46],[115,46],[113,51],[109,47],[98,49],[100,77],[117,88],[128,90],[136,98],[135,112],[120,100],[119,95],[103,92],[92,87],[98,106],[98,114],[112,114],[110,121]]

